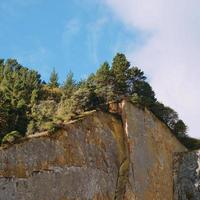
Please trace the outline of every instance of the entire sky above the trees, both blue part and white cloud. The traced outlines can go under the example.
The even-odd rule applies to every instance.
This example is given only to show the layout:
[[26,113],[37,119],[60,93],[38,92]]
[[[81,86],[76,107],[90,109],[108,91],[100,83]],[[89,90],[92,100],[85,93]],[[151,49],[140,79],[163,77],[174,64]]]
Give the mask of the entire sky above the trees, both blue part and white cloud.
[[0,0],[0,57],[48,81],[87,77],[117,52],[200,138],[199,0]]

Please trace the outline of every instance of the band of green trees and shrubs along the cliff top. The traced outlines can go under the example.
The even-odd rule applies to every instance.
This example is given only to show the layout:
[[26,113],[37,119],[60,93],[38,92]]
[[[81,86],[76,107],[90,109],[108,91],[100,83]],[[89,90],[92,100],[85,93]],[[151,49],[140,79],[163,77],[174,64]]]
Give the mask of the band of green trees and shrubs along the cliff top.
[[55,69],[46,84],[38,72],[16,60],[0,60],[0,140],[5,143],[19,135],[52,132],[56,124],[125,97],[147,107],[176,137],[187,138],[187,126],[173,109],[156,99],[144,72],[132,67],[124,54],[116,54],[111,66],[104,62],[86,80],[75,81],[69,72],[62,85]]

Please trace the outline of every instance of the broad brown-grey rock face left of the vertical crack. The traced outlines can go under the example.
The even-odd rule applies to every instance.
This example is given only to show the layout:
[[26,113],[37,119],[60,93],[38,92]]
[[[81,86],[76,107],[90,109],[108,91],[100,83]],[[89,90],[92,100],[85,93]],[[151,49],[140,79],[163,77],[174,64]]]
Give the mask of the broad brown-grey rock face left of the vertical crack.
[[123,135],[119,119],[98,112],[1,150],[0,200],[114,199]]

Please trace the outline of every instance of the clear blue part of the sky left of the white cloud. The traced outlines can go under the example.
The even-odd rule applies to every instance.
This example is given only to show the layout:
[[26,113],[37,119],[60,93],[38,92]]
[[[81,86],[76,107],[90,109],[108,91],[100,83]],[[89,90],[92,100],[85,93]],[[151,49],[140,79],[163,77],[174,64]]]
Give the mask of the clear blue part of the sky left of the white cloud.
[[1,0],[0,57],[16,58],[46,81],[55,68],[86,77],[117,52],[140,48],[139,30],[125,26],[105,4],[86,0]]

